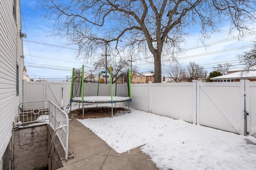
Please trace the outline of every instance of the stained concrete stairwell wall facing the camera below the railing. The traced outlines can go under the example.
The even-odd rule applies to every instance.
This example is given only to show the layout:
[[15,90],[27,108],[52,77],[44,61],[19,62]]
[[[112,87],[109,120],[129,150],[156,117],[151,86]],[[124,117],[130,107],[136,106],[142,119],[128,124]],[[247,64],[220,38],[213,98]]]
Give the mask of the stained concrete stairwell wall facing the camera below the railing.
[[33,170],[46,167],[48,127],[38,125],[14,131],[14,169]]

